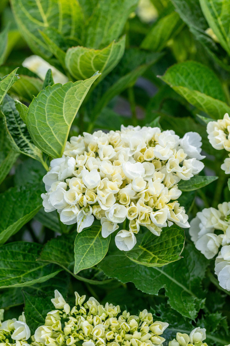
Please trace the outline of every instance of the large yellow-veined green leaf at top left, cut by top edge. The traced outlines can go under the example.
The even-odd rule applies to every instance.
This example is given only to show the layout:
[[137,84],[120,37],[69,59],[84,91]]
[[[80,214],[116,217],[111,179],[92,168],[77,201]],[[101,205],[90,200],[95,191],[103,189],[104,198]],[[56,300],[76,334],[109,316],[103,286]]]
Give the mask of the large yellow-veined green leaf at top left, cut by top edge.
[[83,16],[77,0],[11,0],[11,5],[22,36],[31,50],[44,58],[52,53],[40,31],[54,28],[73,38],[81,33]]

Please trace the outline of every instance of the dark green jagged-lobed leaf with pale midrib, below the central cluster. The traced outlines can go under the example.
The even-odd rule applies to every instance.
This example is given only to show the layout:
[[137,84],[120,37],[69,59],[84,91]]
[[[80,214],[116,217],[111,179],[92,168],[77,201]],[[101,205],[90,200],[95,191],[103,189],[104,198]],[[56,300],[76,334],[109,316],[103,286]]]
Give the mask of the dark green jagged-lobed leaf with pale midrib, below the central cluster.
[[136,264],[119,253],[106,256],[97,266],[108,277],[123,283],[131,281],[137,289],[148,294],[157,295],[164,287],[171,307],[194,319],[204,298],[200,285],[209,261],[191,245],[184,249],[183,256],[180,261],[157,268]]

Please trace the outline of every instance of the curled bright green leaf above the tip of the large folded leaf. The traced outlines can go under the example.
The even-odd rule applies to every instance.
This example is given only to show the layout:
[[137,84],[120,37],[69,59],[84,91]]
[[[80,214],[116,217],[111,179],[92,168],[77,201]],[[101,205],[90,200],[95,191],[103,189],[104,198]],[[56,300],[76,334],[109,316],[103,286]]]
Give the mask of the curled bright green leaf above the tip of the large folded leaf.
[[66,53],[66,67],[77,80],[86,79],[95,72],[104,78],[121,60],[125,48],[125,36],[103,49],[72,47]]

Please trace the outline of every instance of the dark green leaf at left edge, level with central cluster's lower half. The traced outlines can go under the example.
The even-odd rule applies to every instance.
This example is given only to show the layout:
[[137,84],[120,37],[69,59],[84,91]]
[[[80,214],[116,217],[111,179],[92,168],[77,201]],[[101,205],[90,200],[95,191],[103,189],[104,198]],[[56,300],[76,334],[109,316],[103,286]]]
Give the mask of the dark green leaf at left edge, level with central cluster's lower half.
[[0,194],[0,244],[16,234],[38,212],[42,206],[42,191],[43,184],[24,184]]

